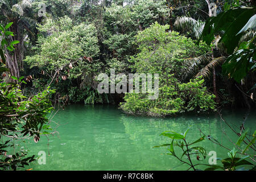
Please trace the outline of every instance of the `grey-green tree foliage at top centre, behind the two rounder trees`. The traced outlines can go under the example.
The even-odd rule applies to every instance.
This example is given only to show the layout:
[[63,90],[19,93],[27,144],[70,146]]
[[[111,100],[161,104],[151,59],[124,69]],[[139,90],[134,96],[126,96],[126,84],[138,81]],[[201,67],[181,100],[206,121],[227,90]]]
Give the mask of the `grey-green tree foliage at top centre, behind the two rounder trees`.
[[[129,56],[137,52],[137,47],[133,44],[137,32],[149,27],[156,20],[167,17],[166,1],[162,0],[140,0],[125,7],[112,3],[106,7],[104,14],[106,30],[103,32],[102,43],[111,52],[107,60],[110,67],[120,70],[120,67],[129,64]],[[121,64],[116,65],[115,61]]]

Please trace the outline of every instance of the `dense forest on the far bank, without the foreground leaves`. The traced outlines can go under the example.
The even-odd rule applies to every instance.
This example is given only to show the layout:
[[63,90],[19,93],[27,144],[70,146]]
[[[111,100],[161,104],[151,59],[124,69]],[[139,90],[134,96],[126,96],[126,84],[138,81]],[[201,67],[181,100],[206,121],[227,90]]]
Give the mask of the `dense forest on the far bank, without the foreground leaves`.
[[[27,85],[22,84],[22,89],[27,96],[51,86],[56,89],[52,100],[59,104],[122,102],[121,108],[133,114],[206,111],[214,109],[214,105],[251,108],[255,106],[254,70],[241,70],[239,74],[243,77],[240,78],[230,71],[232,68],[226,63],[236,51],[234,48],[239,48],[241,43],[245,45],[250,41],[254,44],[253,28],[247,28],[241,34],[239,44],[228,51],[222,42],[222,39],[225,40],[222,38],[224,29],[222,32],[203,29],[205,23],[214,18],[214,13],[218,15],[242,6],[253,7],[254,3],[208,0],[2,0],[1,23],[13,22],[10,31],[14,32],[14,36],[10,41],[19,41],[13,51],[6,50],[9,72],[2,78],[9,80],[10,76],[24,76]],[[249,11],[252,14],[255,12],[254,9]],[[250,18],[251,13],[244,15]],[[232,19],[231,15],[229,19]],[[207,44],[197,42],[201,36],[208,35],[211,39],[206,41]],[[222,72],[222,65],[227,67],[226,71]],[[162,74],[160,85],[164,88],[160,86],[158,104],[142,104],[143,94],[99,94],[97,75],[109,74],[110,69],[125,74],[156,71]],[[179,85],[192,83],[195,78],[204,78],[196,92],[187,88],[188,93],[195,95],[181,98],[185,91],[180,90]],[[162,97],[171,90],[173,96]],[[196,99],[202,98],[202,93],[209,98],[204,98],[204,101]],[[210,99],[213,98],[211,94],[216,103]],[[134,102],[130,97],[134,97]],[[180,101],[175,101],[178,98]],[[137,109],[129,107],[129,103]],[[141,104],[143,106],[139,106]],[[142,111],[143,108],[148,111]]]

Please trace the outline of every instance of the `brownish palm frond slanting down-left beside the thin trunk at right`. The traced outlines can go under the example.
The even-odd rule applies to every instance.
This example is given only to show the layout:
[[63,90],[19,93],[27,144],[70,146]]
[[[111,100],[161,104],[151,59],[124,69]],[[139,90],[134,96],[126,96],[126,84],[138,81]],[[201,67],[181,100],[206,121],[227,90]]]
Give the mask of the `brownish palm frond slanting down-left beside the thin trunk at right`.
[[211,69],[217,67],[218,65],[221,65],[226,60],[225,56],[217,57],[216,59],[213,59],[208,63],[203,69],[200,70],[199,73],[197,73],[196,77],[203,76],[203,77],[209,77],[211,73]]

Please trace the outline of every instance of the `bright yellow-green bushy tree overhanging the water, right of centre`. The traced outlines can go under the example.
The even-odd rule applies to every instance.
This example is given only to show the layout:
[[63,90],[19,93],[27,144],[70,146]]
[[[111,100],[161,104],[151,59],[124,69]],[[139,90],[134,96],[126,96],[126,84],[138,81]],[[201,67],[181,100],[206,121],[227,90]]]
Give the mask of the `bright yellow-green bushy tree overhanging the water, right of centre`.
[[131,57],[131,68],[137,73],[159,73],[159,97],[148,100],[149,93],[127,93],[121,104],[126,113],[165,116],[214,110],[214,95],[203,86],[202,77],[189,82],[179,80],[184,59],[203,54],[209,47],[197,47],[177,32],[166,32],[168,28],[155,23],[136,36],[140,52]]

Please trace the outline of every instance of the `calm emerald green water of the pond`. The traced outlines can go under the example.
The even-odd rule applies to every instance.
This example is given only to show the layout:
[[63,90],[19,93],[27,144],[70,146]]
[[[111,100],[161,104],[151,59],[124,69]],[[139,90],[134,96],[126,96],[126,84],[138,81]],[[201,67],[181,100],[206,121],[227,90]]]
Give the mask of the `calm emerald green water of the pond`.
[[[240,126],[246,111],[222,111],[224,118],[233,126]],[[250,111],[245,127],[255,130],[255,111]],[[201,129],[225,146],[232,143],[221,132],[218,114],[187,114],[175,118],[147,118],[127,116],[117,107],[108,105],[71,105],[60,110],[53,118],[58,125],[58,135],[41,137],[38,143],[27,140],[24,147],[29,154],[46,152],[46,164],[34,162],[28,168],[33,170],[185,170],[170,155],[167,148],[153,146],[170,142],[159,136],[167,130],[183,133],[189,125],[196,124],[188,133],[190,141],[199,139]],[[233,133],[222,123],[228,135]],[[230,139],[237,138],[232,135]],[[47,145],[47,143],[49,145]],[[205,140],[198,144],[209,151],[216,151],[217,158],[225,158],[224,148]],[[49,152],[49,155],[48,155]],[[178,152],[178,151],[177,151]],[[36,155],[38,156],[38,155]],[[208,163],[210,156],[204,160]]]

